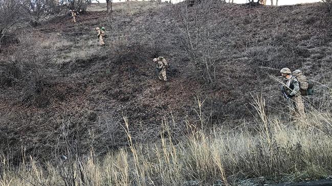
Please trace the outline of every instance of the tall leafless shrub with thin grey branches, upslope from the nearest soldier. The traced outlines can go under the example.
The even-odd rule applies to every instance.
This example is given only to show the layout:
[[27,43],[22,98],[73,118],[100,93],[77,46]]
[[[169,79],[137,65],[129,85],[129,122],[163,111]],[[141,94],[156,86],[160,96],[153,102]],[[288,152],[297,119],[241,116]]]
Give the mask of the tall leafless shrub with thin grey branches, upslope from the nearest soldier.
[[221,53],[216,52],[219,51],[218,39],[214,38],[215,28],[210,24],[213,3],[207,0],[193,7],[182,4],[179,10],[175,10],[179,12],[175,16],[180,20],[178,39],[183,43],[180,48],[189,56],[196,71],[212,85],[216,80],[216,62],[222,58]]

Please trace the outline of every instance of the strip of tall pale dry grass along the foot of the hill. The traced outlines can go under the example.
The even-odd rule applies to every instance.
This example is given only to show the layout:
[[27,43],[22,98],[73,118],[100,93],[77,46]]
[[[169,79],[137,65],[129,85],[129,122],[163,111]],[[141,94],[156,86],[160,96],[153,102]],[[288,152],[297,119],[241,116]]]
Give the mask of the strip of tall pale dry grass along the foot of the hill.
[[286,124],[265,114],[262,97],[254,97],[253,106],[259,119],[255,131],[249,131],[244,122],[236,130],[213,129],[208,134],[186,122],[187,138],[177,143],[163,122],[160,142],[134,144],[124,117],[128,148],[109,153],[102,160],[93,152],[86,158],[72,155],[46,165],[30,157],[17,168],[1,156],[0,185],[183,185],[186,180],[229,185],[236,182],[232,176],[280,179],[289,175],[289,179],[298,180],[329,175],[329,113],[310,113],[307,120]]

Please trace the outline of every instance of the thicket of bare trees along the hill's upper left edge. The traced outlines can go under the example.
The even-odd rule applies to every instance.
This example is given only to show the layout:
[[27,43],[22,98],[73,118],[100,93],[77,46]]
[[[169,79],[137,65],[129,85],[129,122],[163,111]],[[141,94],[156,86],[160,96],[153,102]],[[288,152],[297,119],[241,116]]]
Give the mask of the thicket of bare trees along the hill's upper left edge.
[[91,0],[0,0],[0,50],[4,41],[16,41],[17,33],[28,26],[68,13],[85,12]]

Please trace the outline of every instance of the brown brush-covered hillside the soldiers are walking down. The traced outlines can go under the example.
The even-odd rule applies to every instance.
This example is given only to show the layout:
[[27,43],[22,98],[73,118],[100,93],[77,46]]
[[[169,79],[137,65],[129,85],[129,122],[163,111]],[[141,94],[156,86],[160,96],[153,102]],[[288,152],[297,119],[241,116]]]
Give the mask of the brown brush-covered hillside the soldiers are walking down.
[[[50,159],[69,145],[103,154],[127,144],[124,116],[135,142],[158,140],[163,122],[176,137],[185,123],[200,127],[200,117],[206,128],[255,125],[252,95],[263,95],[268,114],[287,111],[276,80],[282,67],[320,82],[309,99],[327,108],[332,21],[321,3],[116,6],[112,14],[88,11],[76,24],[69,16],[50,20],[7,43],[0,58],[2,151]],[[104,47],[94,31],[101,26]],[[169,61],[168,82],[156,75],[158,56]]]

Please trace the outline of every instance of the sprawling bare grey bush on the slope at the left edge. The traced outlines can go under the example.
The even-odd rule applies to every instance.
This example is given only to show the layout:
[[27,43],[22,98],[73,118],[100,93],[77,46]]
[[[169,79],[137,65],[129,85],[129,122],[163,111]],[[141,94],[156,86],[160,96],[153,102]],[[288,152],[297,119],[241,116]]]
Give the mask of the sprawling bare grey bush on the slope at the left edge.
[[50,85],[47,61],[50,59],[49,51],[43,50],[40,44],[23,34],[18,37],[19,47],[0,66],[0,86],[19,85],[21,94],[18,101],[26,105],[45,106],[48,96],[45,87]]

